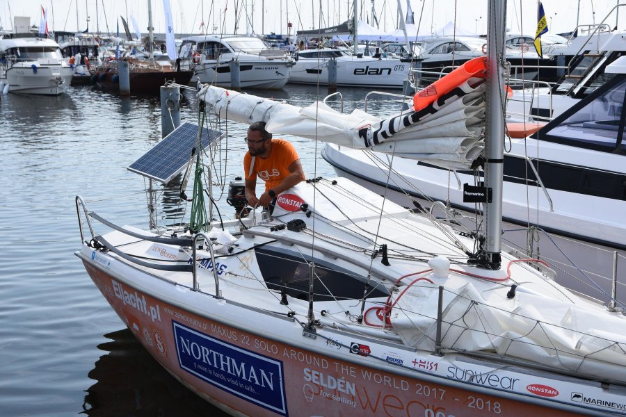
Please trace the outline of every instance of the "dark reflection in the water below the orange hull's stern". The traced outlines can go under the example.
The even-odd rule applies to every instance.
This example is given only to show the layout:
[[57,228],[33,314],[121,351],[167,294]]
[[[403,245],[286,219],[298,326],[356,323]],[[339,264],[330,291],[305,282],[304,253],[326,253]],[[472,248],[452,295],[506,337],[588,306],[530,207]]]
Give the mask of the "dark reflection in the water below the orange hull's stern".
[[111,339],[97,347],[103,354],[88,377],[83,413],[110,416],[224,416],[202,400],[147,353],[129,329],[105,334]]

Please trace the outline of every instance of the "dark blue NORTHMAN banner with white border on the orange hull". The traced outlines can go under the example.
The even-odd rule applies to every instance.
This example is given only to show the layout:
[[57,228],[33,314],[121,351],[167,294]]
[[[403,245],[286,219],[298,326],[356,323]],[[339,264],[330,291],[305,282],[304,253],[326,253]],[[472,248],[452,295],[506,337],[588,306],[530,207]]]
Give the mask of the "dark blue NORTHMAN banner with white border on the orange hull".
[[282,361],[172,321],[181,368],[239,398],[287,416]]

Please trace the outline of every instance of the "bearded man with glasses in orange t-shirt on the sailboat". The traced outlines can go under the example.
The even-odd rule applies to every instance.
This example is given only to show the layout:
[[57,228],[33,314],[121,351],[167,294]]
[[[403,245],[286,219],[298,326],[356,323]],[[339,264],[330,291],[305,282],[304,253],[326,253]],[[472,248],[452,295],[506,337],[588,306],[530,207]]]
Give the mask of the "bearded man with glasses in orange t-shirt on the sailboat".
[[[294,145],[284,139],[272,139],[265,122],[248,128],[248,152],[243,157],[246,199],[250,206],[267,206],[277,195],[305,180],[302,164]],[[257,198],[257,177],[265,181],[265,192]]]

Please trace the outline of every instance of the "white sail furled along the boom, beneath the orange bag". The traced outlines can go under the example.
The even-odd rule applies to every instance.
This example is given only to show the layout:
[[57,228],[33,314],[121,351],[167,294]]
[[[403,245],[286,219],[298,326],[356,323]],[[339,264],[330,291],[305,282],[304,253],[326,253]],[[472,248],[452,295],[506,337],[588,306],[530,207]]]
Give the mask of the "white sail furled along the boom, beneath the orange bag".
[[339,113],[319,101],[292,106],[212,85],[202,88],[198,98],[221,118],[266,122],[270,133],[467,169],[483,150],[484,90],[483,79],[469,79],[420,111],[406,110],[385,119],[359,110]]

